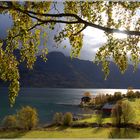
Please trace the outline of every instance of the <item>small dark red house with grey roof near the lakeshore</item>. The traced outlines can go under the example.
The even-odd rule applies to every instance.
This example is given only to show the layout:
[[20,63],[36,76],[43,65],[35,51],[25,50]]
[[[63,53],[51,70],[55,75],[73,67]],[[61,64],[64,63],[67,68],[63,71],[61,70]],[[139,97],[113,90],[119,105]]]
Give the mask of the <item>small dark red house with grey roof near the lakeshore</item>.
[[106,103],[102,107],[103,114],[110,115],[115,104]]

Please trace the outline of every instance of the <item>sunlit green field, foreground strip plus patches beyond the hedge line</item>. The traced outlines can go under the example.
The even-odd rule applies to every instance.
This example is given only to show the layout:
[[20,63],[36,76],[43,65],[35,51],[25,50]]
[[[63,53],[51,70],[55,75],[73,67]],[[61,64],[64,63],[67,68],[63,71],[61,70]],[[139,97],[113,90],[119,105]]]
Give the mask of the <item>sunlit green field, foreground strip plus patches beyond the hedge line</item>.
[[[140,124],[140,99],[130,100],[135,112],[132,123]],[[78,121],[93,123],[97,117]],[[103,123],[111,122],[111,118],[103,118]],[[140,131],[130,128],[71,128],[71,127],[50,127],[38,128],[31,131],[0,131],[0,138],[140,138]]]

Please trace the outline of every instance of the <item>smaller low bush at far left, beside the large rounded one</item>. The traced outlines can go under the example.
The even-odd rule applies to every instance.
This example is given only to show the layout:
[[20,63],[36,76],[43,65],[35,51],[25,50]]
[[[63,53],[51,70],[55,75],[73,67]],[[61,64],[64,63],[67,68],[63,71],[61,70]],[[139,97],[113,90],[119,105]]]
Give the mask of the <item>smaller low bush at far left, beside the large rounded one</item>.
[[15,115],[6,116],[3,119],[3,127],[6,129],[14,129],[16,128],[17,120]]

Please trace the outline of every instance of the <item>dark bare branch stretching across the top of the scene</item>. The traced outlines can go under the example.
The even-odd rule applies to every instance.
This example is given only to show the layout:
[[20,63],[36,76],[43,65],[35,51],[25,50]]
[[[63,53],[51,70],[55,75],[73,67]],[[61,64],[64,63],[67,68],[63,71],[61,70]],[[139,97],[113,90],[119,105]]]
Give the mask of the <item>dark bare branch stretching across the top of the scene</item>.
[[[81,24],[85,25],[84,27],[90,26],[90,27],[93,27],[93,28],[100,29],[100,30],[102,30],[104,32],[107,32],[107,33],[123,33],[123,34],[127,34],[127,35],[140,36],[140,31],[119,30],[119,29],[115,29],[115,28],[104,27],[104,26],[101,26],[101,25],[94,24],[92,22],[88,22],[88,21],[80,18],[76,14],[71,14],[71,13],[44,14],[44,13],[36,13],[34,11],[22,10],[20,8],[16,8],[16,7],[12,7],[12,6],[10,6],[10,7],[0,6],[0,8],[2,8],[4,10],[12,8],[12,9],[14,9],[16,11],[19,11],[19,12],[22,12],[22,13],[28,15],[29,17],[34,18],[34,19],[36,19],[39,22],[42,22],[44,24],[49,23],[49,22],[50,23],[52,23],[52,22],[54,22],[54,23],[65,23],[65,24],[81,23]],[[63,18],[63,17],[68,18],[68,17],[71,17],[71,18],[75,18],[76,21],[55,20],[55,19],[44,20],[44,19],[38,18],[37,16],[51,17],[51,18]],[[81,31],[83,31],[83,30],[81,30]],[[80,31],[78,33],[80,33]]]

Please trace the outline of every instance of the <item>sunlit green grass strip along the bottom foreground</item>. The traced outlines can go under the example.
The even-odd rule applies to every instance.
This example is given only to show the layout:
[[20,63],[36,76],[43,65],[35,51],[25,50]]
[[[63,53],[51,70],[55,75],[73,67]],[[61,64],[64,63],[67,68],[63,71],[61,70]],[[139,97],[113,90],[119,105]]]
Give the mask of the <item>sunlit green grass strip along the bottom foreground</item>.
[[115,128],[51,128],[28,132],[0,132],[0,138],[138,138],[140,133],[132,129]]

